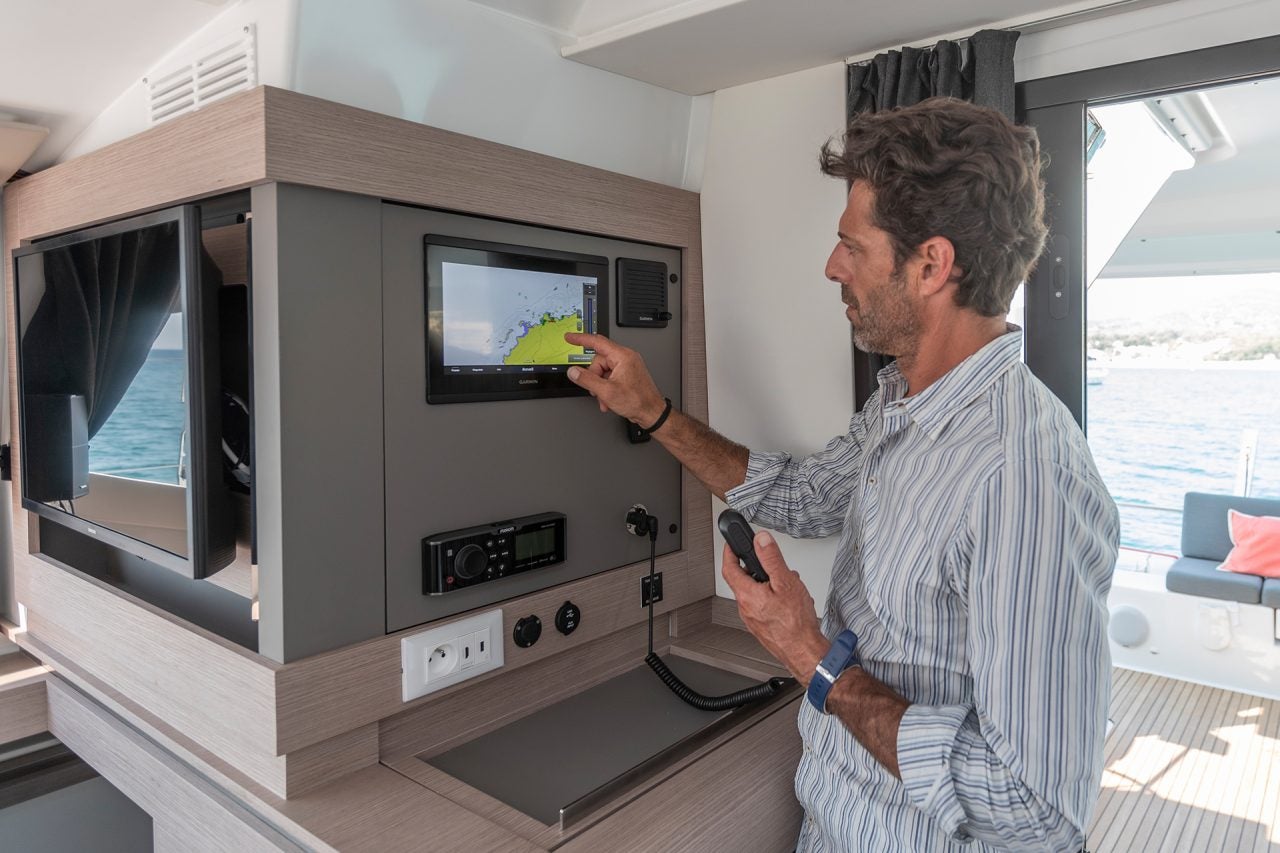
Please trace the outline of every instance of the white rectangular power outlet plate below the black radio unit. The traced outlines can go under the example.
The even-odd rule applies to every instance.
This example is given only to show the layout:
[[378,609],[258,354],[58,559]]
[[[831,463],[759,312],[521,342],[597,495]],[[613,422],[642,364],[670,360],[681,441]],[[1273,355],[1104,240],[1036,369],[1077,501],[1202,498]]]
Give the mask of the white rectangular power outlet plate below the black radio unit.
[[502,666],[502,611],[460,619],[401,639],[401,695],[404,702],[443,690]]

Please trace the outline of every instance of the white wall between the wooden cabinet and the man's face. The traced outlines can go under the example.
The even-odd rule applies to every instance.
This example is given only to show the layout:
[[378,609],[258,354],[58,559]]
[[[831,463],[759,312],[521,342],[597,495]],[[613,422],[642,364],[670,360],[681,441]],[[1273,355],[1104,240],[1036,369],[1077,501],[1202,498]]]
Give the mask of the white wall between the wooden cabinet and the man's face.
[[[845,188],[818,170],[844,126],[844,74],[837,63],[716,92],[703,174],[710,423],[748,447],[810,452],[852,415],[849,321],[823,277]],[[780,542],[820,608],[835,540]]]

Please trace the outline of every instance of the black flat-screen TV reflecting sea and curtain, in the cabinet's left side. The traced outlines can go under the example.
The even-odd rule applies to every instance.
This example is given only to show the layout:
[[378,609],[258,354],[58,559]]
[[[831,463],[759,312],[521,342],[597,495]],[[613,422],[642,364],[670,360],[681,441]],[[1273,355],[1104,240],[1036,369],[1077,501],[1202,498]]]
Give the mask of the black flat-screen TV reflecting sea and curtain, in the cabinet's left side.
[[14,252],[22,505],[188,578],[236,557],[200,210]]

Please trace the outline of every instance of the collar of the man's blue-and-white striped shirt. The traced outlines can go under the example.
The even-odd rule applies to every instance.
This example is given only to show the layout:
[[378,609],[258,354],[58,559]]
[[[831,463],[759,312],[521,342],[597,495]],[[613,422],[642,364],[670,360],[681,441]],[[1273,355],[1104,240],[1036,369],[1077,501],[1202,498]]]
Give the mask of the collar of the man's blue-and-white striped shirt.
[[906,397],[906,377],[891,364],[877,374],[886,432],[896,432],[910,418],[936,441],[955,412],[983,394],[1010,368],[1021,360],[1023,333],[1016,325],[957,364],[928,388]]

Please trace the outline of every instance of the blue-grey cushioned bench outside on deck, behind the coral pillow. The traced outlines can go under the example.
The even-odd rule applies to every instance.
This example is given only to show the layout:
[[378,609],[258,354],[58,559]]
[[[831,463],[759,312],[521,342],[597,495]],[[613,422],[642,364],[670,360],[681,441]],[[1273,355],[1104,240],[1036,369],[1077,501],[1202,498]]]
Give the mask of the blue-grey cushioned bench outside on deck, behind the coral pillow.
[[1183,500],[1183,556],[1169,567],[1165,587],[1189,596],[1280,608],[1280,579],[1217,570],[1231,551],[1228,510],[1280,516],[1280,500],[1188,492]]

